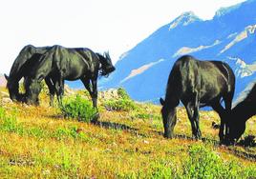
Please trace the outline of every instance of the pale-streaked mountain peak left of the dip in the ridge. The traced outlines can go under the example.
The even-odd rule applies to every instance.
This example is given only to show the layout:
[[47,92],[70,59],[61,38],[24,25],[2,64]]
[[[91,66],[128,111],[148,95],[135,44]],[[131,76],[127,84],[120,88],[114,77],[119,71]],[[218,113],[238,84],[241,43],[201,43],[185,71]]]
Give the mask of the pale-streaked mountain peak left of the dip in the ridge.
[[173,22],[171,22],[169,30],[175,29],[178,26],[187,26],[195,21],[200,20],[201,19],[195,15],[193,11],[186,11],[177,17]]

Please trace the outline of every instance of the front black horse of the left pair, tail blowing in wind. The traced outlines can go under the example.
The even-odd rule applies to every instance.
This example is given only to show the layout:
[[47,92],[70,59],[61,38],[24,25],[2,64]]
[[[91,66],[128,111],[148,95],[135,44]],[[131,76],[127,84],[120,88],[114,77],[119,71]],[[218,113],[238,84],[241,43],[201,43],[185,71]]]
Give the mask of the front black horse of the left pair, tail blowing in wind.
[[40,82],[47,76],[51,76],[59,103],[64,93],[64,80],[80,79],[88,89],[96,108],[98,73],[106,76],[114,70],[115,67],[108,53],[103,56],[85,48],[68,49],[53,46],[43,54],[32,70],[26,84],[28,101],[30,104],[36,104],[41,89]]

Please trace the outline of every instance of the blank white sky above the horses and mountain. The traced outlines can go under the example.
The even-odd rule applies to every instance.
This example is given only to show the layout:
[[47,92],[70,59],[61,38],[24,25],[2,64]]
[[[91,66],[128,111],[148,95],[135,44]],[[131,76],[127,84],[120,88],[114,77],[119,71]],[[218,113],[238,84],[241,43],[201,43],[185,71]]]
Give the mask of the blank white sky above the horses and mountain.
[[0,0],[0,73],[26,45],[110,51],[114,62],[184,11],[211,19],[245,0]]

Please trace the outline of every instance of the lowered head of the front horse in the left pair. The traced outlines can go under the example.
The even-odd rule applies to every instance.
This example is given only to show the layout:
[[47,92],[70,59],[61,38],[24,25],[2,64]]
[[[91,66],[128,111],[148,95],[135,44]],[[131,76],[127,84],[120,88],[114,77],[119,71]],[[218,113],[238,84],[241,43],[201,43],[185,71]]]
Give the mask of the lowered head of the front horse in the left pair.
[[25,81],[26,89],[26,102],[29,105],[39,105],[38,95],[41,91],[41,84],[37,80],[26,79]]

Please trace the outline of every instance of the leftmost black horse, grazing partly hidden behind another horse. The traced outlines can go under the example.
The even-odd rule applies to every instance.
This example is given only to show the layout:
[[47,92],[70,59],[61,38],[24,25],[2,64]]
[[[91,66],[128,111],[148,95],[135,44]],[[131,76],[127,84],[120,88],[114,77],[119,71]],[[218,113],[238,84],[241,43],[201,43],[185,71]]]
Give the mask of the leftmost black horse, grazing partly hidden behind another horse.
[[[36,48],[32,45],[28,45],[20,51],[12,64],[9,76],[5,74],[7,79],[7,88],[9,89],[12,101],[25,102],[25,96],[19,93],[19,81],[22,77],[24,77],[26,81],[27,77],[30,76],[32,68],[41,58],[41,55],[50,49],[51,47]],[[53,96],[54,89],[51,79],[47,77],[45,78],[45,82],[50,89],[51,96]]]

